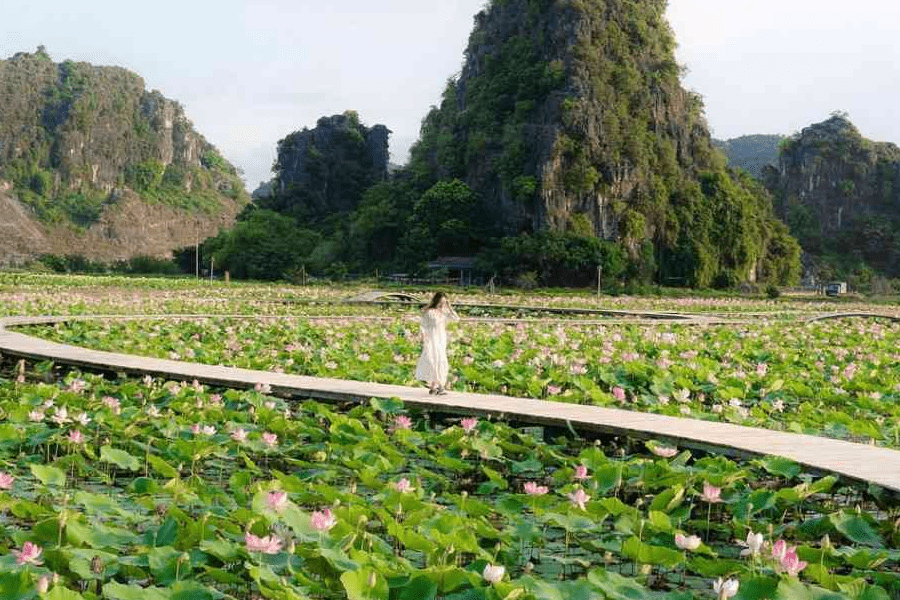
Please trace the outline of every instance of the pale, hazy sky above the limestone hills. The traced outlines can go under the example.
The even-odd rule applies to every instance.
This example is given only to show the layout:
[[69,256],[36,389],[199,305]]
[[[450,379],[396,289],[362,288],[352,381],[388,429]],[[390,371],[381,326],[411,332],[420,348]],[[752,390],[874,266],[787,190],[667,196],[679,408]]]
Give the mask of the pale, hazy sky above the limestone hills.
[[[272,177],[278,140],[348,109],[391,129],[391,160],[405,163],[486,4],[0,0],[0,59],[44,45],[55,62],[134,71],[252,191]],[[666,14],[714,137],[789,135],[839,110],[900,144],[894,0],[670,0]]]

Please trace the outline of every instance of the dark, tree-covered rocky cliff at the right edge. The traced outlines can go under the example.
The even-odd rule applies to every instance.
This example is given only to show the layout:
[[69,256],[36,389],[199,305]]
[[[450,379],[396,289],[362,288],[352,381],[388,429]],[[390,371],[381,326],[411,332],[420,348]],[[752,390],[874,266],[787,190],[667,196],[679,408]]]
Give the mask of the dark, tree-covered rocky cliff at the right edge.
[[764,173],[805,250],[900,275],[900,148],[865,139],[844,114],[810,125]]

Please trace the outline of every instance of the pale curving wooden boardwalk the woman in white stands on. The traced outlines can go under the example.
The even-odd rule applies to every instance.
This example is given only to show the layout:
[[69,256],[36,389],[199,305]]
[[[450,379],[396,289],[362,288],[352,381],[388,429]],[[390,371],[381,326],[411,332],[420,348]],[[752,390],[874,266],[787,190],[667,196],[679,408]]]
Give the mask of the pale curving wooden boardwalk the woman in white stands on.
[[0,352],[32,360],[52,360],[85,369],[152,375],[182,381],[196,379],[200,383],[222,387],[246,389],[257,384],[269,385],[272,394],[291,398],[358,402],[365,402],[372,397],[398,398],[407,406],[440,413],[491,416],[521,423],[571,427],[583,432],[657,439],[680,447],[737,456],[778,455],[815,472],[831,472],[900,493],[900,452],[878,446],[729,423],[530,398],[463,392],[430,396],[424,387],[286,375],[116,354],[57,344],[6,330],[6,326],[10,325],[51,323],[68,318],[0,319]]

